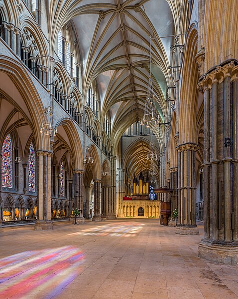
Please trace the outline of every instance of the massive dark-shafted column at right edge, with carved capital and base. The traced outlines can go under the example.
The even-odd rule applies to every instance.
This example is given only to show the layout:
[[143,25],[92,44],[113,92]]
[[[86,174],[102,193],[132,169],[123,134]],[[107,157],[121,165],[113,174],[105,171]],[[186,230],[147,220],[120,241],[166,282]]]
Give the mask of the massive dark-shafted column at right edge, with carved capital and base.
[[198,256],[234,265],[238,264],[236,64],[230,61],[213,68],[198,84],[204,93],[205,219],[205,234],[198,248]]

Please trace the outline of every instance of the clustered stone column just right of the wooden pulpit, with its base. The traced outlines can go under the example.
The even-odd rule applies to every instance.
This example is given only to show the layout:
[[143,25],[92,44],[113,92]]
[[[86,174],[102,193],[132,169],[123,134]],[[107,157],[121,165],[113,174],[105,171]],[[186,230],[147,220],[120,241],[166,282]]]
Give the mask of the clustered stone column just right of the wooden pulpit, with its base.
[[197,144],[186,143],[176,148],[179,154],[178,171],[180,174],[178,185],[180,205],[176,234],[199,234],[195,212],[195,154],[197,147]]

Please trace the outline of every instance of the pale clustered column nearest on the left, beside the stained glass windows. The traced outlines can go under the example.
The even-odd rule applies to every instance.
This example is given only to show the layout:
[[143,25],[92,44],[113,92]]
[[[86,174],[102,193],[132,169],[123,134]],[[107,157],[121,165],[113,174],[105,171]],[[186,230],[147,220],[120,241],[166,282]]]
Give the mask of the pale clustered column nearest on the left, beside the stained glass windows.
[[51,221],[51,159],[53,153],[49,151],[36,151],[37,161],[37,195],[38,219],[35,230],[52,230]]

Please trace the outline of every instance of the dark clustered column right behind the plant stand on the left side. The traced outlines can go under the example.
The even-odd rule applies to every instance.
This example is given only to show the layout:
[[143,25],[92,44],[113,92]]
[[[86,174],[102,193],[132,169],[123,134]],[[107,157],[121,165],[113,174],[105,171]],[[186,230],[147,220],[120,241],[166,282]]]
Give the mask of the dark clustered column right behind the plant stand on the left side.
[[73,196],[74,206],[80,210],[77,223],[85,223],[84,212],[84,170],[75,169],[73,171]]

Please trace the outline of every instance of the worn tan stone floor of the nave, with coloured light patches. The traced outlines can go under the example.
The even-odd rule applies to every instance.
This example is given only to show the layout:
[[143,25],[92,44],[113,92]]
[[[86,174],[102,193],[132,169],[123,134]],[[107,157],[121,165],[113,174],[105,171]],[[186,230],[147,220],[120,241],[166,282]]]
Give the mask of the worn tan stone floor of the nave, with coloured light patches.
[[0,299],[234,299],[238,266],[203,261],[199,236],[155,219],[0,229]]

